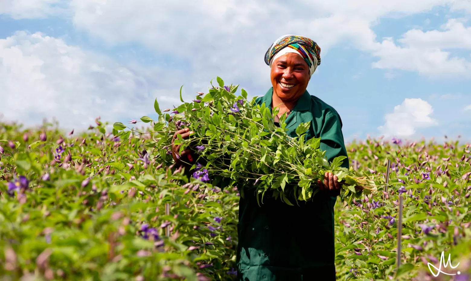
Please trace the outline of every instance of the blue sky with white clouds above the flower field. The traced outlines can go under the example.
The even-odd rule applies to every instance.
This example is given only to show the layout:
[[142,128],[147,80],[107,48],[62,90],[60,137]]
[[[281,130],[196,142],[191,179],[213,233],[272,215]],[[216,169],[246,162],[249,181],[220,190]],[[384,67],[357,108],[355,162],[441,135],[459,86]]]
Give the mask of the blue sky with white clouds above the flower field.
[[288,33],[321,47],[308,91],[345,141],[471,139],[470,15],[470,0],[0,0],[0,113],[126,123],[216,76],[260,96],[263,56]]

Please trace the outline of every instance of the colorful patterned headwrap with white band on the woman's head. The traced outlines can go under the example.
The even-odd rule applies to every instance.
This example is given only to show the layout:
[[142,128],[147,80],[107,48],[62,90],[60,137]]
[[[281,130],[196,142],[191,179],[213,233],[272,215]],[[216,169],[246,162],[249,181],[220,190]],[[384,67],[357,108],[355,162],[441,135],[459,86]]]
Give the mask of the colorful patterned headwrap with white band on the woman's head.
[[292,34],[283,35],[273,42],[265,53],[265,63],[271,67],[276,58],[286,53],[297,53],[306,61],[309,66],[309,78],[321,64],[321,48],[317,43],[307,37]]

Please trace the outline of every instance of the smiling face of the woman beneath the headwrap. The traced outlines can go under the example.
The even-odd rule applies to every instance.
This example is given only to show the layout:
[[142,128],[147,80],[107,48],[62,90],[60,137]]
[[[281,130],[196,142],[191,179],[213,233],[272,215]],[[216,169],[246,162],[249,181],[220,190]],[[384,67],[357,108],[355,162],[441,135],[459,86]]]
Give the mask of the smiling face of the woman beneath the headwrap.
[[273,92],[281,100],[295,101],[302,96],[308,87],[308,64],[298,54],[284,54],[273,62],[270,79]]

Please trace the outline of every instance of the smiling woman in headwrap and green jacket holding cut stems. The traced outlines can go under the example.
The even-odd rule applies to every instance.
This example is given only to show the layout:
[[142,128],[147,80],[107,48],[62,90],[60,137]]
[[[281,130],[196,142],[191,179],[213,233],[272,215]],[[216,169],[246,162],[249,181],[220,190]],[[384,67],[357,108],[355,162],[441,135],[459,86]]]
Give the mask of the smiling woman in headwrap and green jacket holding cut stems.
[[[301,123],[310,123],[306,140],[321,138],[329,162],[347,156],[340,116],[306,87],[320,64],[320,48],[309,38],[284,35],[265,54],[272,88],[256,100],[279,108],[275,124],[285,119],[287,134],[296,137]],[[348,168],[348,158],[342,167]],[[318,181],[319,196],[299,206],[267,198],[261,206],[246,193],[239,201],[237,269],[241,281],[335,280],[333,206],[340,194],[337,177]]]

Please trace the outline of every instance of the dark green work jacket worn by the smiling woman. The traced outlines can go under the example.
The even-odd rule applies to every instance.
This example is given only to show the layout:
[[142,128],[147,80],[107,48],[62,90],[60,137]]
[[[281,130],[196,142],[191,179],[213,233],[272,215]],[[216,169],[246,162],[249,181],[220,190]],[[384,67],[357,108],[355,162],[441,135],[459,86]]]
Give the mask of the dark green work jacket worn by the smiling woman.
[[[273,88],[257,103],[265,102],[271,108],[272,94]],[[311,126],[306,140],[320,137],[320,149],[326,151],[327,160],[347,156],[339,114],[305,91],[286,118],[288,135],[296,137],[296,127],[308,121]],[[342,166],[349,167],[348,159]],[[238,280],[335,280],[335,200],[318,193],[312,201],[289,206],[265,196],[259,207],[253,192],[246,192],[239,203]]]

